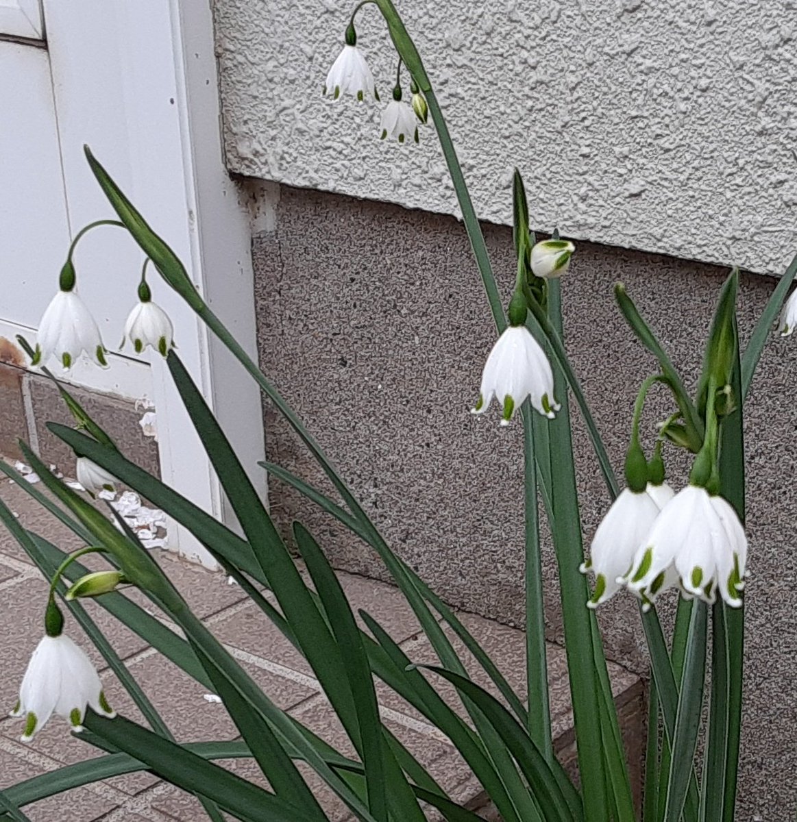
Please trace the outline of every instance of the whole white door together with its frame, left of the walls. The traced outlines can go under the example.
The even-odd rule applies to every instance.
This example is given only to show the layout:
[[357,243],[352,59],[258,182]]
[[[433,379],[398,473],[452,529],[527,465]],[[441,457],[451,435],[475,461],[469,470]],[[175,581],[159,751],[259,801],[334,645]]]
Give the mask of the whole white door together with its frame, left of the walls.
[[[3,62],[4,61],[4,62]],[[83,155],[88,144],[183,259],[197,291],[256,354],[251,234],[224,167],[211,7],[195,0],[0,0],[0,336],[33,335],[58,288],[68,243],[113,217]],[[78,289],[114,349],[135,300],[141,251],[96,229],[75,256]],[[21,280],[25,280],[21,287]],[[257,386],[193,312],[153,278],[180,357],[265,494]],[[109,357],[70,376],[128,398],[149,396],[161,476],[228,519],[218,478],[157,355]],[[212,565],[181,527],[173,550]]]

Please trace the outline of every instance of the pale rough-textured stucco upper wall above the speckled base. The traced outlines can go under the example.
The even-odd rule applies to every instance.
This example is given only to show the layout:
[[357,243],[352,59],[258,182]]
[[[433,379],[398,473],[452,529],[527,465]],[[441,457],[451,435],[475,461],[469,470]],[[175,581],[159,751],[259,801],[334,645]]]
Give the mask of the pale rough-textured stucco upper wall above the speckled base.
[[[229,168],[456,214],[432,127],[378,140],[378,104],[321,88],[353,0],[215,0]],[[795,0],[401,0],[483,219],[781,273],[797,249]],[[390,98],[395,58],[358,20]],[[408,94],[409,83],[405,84]]]

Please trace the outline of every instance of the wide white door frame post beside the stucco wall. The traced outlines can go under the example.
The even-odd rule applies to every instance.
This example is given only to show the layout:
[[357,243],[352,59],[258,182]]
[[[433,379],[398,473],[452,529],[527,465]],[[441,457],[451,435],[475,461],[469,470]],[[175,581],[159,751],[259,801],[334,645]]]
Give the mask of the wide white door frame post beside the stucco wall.
[[[113,216],[83,155],[88,144],[153,229],[183,259],[199,293],[257,357],[248,210],[226,172],[208,0],[44,0],[67,210],[72,235]],[[81,242],[81,270],[130,270],[141,252],[118,229]],[[177,294],[154,283],[178,352],[214,409],[253,482],[265,495],[259,390]],[[217,478],[160,358],[152,395],[164,482],[225,518]],[[169,547],[214,566],[186,529]]]

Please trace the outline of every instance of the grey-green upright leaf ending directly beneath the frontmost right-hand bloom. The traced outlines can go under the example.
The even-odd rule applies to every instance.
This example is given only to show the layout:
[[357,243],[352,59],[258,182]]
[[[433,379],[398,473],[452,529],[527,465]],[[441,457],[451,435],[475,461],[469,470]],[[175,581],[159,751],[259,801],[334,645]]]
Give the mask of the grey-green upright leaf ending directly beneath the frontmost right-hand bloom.
[[697,602],[689,622],[686,658],[683,663],[678,710],[670,748],[670,775],[667,779],[665,822],[679,822],[693,774],[697,737],[706,681],[707,607]]

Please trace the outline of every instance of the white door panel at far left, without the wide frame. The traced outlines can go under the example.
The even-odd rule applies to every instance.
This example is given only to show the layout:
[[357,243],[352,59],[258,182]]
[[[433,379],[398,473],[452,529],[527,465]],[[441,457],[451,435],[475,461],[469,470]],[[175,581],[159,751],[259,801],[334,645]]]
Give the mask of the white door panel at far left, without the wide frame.
[[[0,336],[13,344],[23,335],[35,344],[39,318],[58,289],[58,272],[81,228],[70,219],[52,62],[38,0],[0,0],[0,111]],[[135,301],[135,274],[91,265],[97,247],[93,237],[81,242],[77,290],[105,345],[115,352]],[[127,294],[117,289],[123,283]],[[107,371],[77,363],[67,379],[129,399],[151,396],[146,363],[116,353],[109,361]]]

